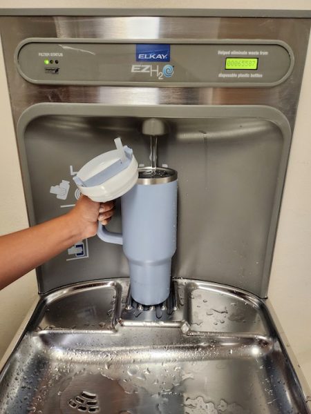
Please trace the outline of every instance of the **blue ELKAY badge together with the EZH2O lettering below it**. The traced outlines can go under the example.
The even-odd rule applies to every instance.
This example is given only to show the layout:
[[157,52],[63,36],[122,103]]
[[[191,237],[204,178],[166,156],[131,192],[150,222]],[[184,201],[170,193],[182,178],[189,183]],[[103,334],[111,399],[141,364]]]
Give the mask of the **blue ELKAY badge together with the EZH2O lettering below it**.
[[[136,61],[160,62],[170,61],[171,46],[167,44],[145,44],[136,45]],[[132,73],[149,73],[150,77],[157,77],[158,80],[172,77],[174,68],[172,65],[164,65],[161,69],[159,65],[138,64],[132,65]]]

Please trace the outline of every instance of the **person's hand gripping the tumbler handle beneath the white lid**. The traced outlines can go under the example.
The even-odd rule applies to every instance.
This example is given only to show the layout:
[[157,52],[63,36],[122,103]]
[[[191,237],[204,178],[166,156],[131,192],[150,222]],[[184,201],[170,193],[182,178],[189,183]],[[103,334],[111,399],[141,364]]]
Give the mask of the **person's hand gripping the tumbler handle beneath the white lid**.
[[85,195],[81,195],[73,210],[67,214],[81,230],[82,239],[86,239],[87,237],[95,236],[97,220],[100,220],[104,226],[109,223],[114,213],[114,208],[114,201],[97,203]]

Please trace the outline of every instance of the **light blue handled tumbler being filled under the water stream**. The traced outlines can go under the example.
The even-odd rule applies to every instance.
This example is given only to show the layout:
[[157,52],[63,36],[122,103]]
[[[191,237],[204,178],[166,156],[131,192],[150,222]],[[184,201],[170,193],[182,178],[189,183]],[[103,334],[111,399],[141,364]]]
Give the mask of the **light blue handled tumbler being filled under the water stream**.
[[140,168],[138,181],[122,195],[122,234],[99,224],[104,242],[123,245],[129,260],[131,295],[143,305],[169,296],[171,258],[176,251],[177,172],[170,168]]

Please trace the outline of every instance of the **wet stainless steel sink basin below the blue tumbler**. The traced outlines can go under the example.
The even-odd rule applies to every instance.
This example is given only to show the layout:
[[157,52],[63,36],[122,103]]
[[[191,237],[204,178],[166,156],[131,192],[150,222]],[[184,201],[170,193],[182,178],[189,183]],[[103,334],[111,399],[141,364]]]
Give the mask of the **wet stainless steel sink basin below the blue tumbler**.
[[310,413],[265,301],[176,279],[171,302],[129,279],[42,297],[0,375],[1,414]]

